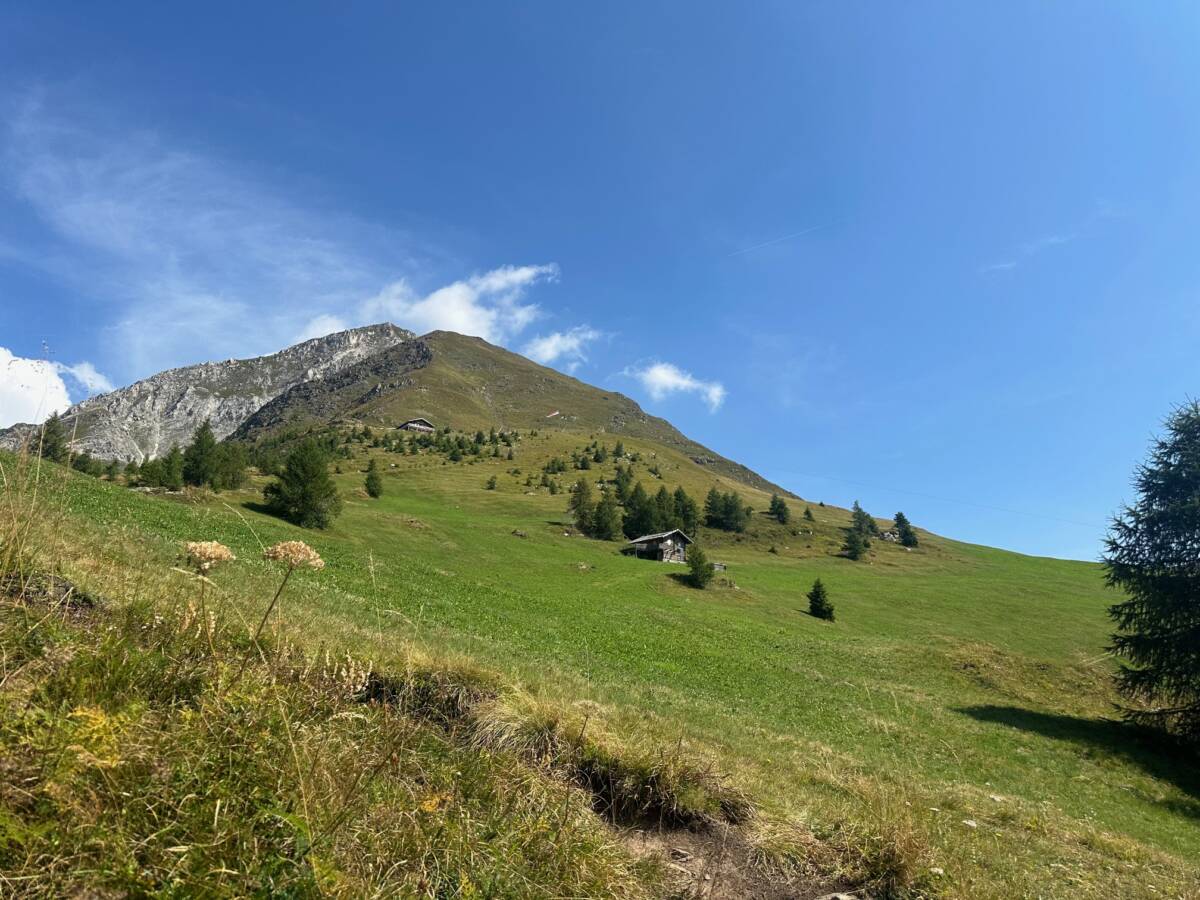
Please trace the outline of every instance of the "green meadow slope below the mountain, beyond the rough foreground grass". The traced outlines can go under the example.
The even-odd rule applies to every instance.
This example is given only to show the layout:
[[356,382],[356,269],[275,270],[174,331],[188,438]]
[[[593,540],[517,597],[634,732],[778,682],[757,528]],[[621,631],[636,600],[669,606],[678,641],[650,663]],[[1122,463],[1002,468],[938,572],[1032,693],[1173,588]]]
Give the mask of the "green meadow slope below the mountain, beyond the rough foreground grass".
[[[758,515],[745,535],[702,533],[728,571],[697,592],[676,566],[575,536],[565,496],[526,486],[590,438],[544,430],[512,462],[384,454],[378,500],[361,492],[378,451],[362,449],[342,463],[347,508],[323,533],[265,515],[262,481],[182,499],[72,478],[71,521],[158,559],[182,540],[218,539],[245,560],[304,538],[329,566],[298,580],[288,640],[466,656],[588,733],[709,760],[762,821],[810,834],[791,846],[815,865],[857,860],[862,877],[952,896],[1196,895],[1200,778],[1112,719],[1098,566],[925,533],[917,551],[877,541],[853,563],[832,552],[847,514],[812,504],[810,524],[793,502],[792,527]],[[625,444],[648,482],[652,461],[696,496],[718,480],[686,451]],[[833,624],[805,613],[818,576]],[[221,583],[265,581],[239,562]]]

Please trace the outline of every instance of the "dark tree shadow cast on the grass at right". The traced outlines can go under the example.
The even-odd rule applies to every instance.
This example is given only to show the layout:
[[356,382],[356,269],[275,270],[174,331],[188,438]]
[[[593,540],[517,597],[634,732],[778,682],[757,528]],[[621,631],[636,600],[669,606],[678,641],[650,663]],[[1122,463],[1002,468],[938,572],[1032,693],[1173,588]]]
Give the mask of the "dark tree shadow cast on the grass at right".
[[1078,715],[1039,713],[1021,707],[960,707],[956,712],[982,722],[1007,725],[1055,740],[1069,740],[1086,752],[1112,756],[1134,766],[1159,781],[1174,785],[1188,800],[1166,800],[1162,805],[1174,812],[1200,818],[1200,767],[1194,751],[1169,738],[1117,719],[1085,719]]

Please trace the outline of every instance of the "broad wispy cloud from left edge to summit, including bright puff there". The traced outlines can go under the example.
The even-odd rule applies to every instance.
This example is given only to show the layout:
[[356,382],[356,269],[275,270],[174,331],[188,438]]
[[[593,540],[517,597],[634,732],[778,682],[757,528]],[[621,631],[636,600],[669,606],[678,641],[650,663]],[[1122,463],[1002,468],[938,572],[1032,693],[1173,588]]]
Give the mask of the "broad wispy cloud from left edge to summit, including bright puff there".
[[380,319],[514,341],[542,314],[528,290],[558,277],[553,264],[502,265],[422,289],[439,250],[302,206],[229,161],[38,96],[2,125],[0,184],[40,226],[2,250],[95,300],[126,377]]

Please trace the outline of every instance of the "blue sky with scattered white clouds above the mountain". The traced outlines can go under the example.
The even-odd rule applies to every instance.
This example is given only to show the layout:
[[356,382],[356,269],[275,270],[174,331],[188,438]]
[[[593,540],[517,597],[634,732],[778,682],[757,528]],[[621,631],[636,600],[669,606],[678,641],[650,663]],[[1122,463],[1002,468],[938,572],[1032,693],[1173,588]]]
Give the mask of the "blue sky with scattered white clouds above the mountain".
[[1094,558],[1196,392],[1194,4],[334,10],[0,4],[0,419],[390,318]]

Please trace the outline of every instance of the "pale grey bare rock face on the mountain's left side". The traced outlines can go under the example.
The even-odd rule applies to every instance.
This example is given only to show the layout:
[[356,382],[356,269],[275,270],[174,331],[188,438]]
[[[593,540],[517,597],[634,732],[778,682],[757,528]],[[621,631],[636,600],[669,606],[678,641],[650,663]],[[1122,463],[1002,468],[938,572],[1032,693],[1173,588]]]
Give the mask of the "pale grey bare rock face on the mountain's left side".
[[[62,420],[76,433],[77,452],[143,462],[173,444],[186,445],[205,419],[220,440],[284,391],[413,337],[385,323],[316,337],[268,356],[172,368],[76,403]],[[36,432],[34,425],[0,431],[0,446],[16,449]]]

